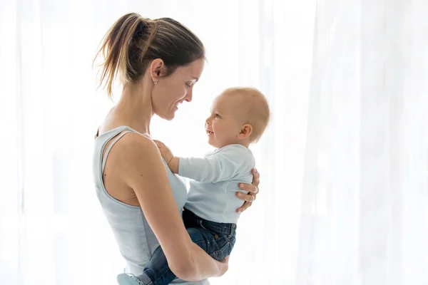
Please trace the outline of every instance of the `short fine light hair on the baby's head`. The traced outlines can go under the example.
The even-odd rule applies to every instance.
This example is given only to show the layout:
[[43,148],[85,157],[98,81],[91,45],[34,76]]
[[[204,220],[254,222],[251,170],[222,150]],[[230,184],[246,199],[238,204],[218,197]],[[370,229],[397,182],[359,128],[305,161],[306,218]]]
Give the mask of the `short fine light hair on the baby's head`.
[[250,142],[258,142],[270,121],[270,109],[265,95],[251,87],[228,88],[223,94],[240,96],[239,108],[245,113],[247,123],[253,126]]

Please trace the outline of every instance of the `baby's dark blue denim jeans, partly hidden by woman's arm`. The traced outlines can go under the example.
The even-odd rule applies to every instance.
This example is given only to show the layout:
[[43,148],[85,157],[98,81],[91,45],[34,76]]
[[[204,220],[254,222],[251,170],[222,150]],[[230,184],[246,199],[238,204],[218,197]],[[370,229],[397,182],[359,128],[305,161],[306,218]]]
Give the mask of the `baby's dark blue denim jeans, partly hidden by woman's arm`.
[[[220,261],[232,252],[236,224],[211,222],[198,217],[188,209],[183,210],[183,222],[192,242],[198,244],[213,259]],[[146,285],[168,285],[175,279],[161,247],[155,250],[151,261],[144,267],[143,274],[138,276],[138,279]]]

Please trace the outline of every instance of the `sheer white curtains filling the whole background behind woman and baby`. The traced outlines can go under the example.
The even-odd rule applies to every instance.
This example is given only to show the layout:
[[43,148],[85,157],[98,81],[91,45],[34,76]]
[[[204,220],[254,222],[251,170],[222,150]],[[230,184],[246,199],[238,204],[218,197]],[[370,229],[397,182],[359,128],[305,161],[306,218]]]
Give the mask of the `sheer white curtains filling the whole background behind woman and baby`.
[[270,101],[261,192],[212,284],[428,284],[427,4],[0,0],[0,284],[116,284],[91,177],[113,103],[91,63],[129,11],[177,19],[207,48],[193,102],[152,129],[177,155],[210,149],[224,88]]

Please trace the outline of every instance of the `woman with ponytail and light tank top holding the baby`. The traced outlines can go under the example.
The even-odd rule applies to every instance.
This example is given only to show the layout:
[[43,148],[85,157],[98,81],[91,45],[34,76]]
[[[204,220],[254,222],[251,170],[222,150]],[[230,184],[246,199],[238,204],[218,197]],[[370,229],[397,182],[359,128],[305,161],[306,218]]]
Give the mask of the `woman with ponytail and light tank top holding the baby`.
[[[123,91],[98,129],[93,175],[126,272],[141,273],[161,245],[173,273],[195,281],[174,284],[208,284],[206,278],[225,273],[228,260],[215,261],[190,240],[180,216],[185,185],[150,136],[153,115],[172,120],[178,105],[192,100],[205,61],[203,44],[173,19],[126,14],[106,34],[100,54],[101,84],[111,96],[119,76]],[[253,185],[241,187],[249,194],[240,193],[246,202],[238,211],[250,207],[258,193],[259,175],[253,175]]]

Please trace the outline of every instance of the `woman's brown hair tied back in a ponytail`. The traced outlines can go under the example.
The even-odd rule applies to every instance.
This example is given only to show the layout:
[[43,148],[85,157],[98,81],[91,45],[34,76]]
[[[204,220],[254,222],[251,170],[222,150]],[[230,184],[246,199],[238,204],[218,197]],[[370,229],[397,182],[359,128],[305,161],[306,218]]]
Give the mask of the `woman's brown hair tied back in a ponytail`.
[[117,75],[121,83],[137,81],[153,59],[161,58],[169,76],[178,66],[205,58],[200,39],[170,18],[147,19],[139,14],[121,16],[108,30],[96,53],[102,54],[100,86],[111,97]]

